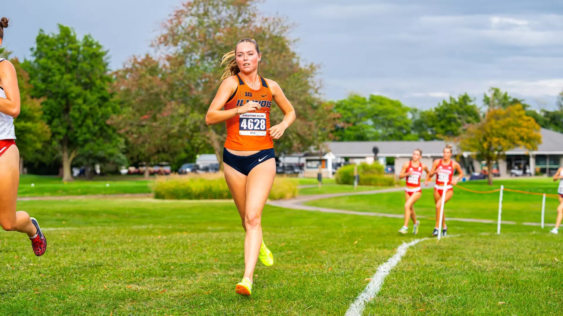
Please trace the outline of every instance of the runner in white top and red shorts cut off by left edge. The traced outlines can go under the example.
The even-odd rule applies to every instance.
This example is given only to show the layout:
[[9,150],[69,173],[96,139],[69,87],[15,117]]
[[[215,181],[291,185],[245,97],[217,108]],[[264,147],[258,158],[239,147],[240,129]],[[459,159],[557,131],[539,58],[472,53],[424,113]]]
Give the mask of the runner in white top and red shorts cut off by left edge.
[[[8,19],[0,19],[0,46]],[[14,118],[20,114],[20,90],[14,65],[0,58],[0,225],[5,231],[26,233],[33,252],[41,256],[47,240],[37,220],[24,211],[16,212],[17,187],[20,184],[20,151],[16,146]]]

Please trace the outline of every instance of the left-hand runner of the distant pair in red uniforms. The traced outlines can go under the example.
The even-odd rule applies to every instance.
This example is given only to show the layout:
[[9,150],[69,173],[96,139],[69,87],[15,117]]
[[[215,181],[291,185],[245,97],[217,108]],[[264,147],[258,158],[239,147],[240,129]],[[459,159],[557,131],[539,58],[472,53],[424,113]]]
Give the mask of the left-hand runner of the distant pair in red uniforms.
[[399,233],[401,234],[406,234],[409,231],[409,218],[413,219],[413,234],[418,234],[418,227],[421,224],[421,222],[417,220],[417,214],[414,213],[414,203],[422,196],[422,171],[425,171],[426,174],[430,172],[428,171],[428,167],[420,161],[421,155],[422,150],[415,149],[412,159],[403,164],[403,169],[401,169],[401,173],[399,174],[399,179],[406,178],[405,223],[403,227],[399,229]]

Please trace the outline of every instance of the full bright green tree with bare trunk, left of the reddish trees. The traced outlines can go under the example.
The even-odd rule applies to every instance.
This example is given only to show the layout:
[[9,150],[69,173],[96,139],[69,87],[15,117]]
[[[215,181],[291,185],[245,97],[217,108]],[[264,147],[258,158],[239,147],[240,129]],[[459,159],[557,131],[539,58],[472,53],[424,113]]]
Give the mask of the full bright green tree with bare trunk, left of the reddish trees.
[[43,98],[43,119],[62,160],[62,180],[72,181],[75,157],[110,152],[118,142],[115,129],[106,123],[119,111],[109,92],[108,52],[90,35],[77,39],[64,25],[59,33],[40,30],[35,41],[33,60],[23,67],[31,78],[32,96]]

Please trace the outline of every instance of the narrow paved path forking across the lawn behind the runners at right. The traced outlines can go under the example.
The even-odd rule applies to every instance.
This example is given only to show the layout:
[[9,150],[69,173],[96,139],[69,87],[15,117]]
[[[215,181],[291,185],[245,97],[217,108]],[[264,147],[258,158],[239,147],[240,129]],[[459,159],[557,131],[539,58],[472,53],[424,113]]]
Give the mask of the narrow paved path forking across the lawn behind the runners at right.
[[[432,188],[432,187],[434,187],[434,184],[430,184],[427,187],[423,186],[423,188]],[[373,191],[306,195],[306,196],[291,198],[289,200],[268,201],[267,204],[272,205],[272,206],[284,207],[286,209],[293,209],[293,210],[320,211],[320,212],[323,212],[323,213],[338,213],[338,214],[363,215],[363,216],[379,216],[379,217],[390,217],[390,218],[404,218],[403,214],[360,212],[360,211],[329,209],[327,207],[303,205],[303,203],[305,203],[305,202],[314,201],[314,200],[322,200],[323,198],[351,196],[351,195],[369,195],[369,194],[379,194],[379,193],[389,193],[389,192],[400,192],[400,191],[403,191],[403,190],[404,190],[404,188],[400,187],[400,188],[390,188],[390,189],[381,189],[381,190],[373,190]],[[425,216],[422,216],[422,215],[417,215],[417,217],[425,218]],[[477,218],[446,217],[446,220],[455,220],[457,222],[485,223],[485,224],[496,224],[497,223],[496,220],[477,219]],[[512,220],[501,220],[501,224],[516,225],[516,222],[513,222]],[[528,223],[528,222],[521,223],[521,224],[522,225],[529,225],[529,226],[540,226],[541,225],[540,223]],[[545,224],[545,226],[555,226],[555,225],[554,224]]]

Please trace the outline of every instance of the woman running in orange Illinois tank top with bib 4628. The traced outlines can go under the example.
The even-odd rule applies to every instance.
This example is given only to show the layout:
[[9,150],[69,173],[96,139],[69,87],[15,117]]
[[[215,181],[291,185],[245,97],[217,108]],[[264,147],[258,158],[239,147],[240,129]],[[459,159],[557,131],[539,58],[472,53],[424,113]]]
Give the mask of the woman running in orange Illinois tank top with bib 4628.
[[[205,123],[226,121],[227,140],[223,150],[225,180],[233,195],[242,225],[244,239],[244,276],[236,293],[251,295],[252,276],[258,258],[263,264],[274,264],[274,256],[262,240],[262,209],[270,195],[276,164],[274,142],[295,120],[293,106],[280,86],[258,75],[262,58],[256,40],[244,38],[235,50],[223,56],[224,80],[207,115]],[[272,99],[285,117],[270,127]],[[225,110],[221,110],[225,107]]]

